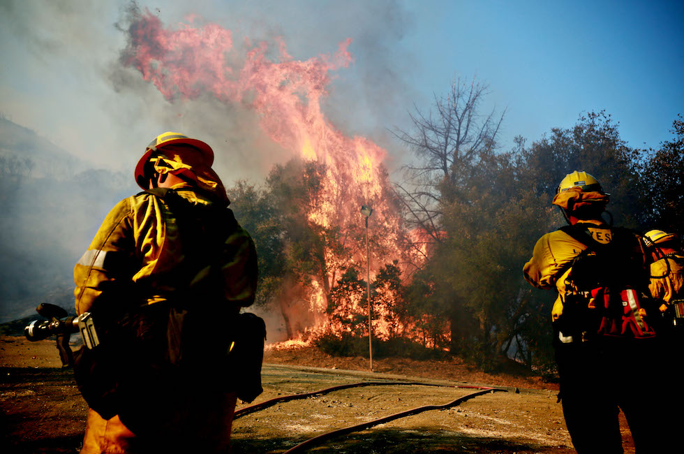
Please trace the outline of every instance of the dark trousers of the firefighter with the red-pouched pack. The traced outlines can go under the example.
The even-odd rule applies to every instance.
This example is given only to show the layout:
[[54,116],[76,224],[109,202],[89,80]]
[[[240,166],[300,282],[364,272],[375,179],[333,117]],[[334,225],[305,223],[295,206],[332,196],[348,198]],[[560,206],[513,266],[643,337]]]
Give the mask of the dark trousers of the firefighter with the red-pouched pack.
[[[623,453],[622,410],[637,453],[667,453],[667,396],[655,339],[598,339],[556,346],[560,399],[579,454]],[[669,409],[674,411],[674,409]]]

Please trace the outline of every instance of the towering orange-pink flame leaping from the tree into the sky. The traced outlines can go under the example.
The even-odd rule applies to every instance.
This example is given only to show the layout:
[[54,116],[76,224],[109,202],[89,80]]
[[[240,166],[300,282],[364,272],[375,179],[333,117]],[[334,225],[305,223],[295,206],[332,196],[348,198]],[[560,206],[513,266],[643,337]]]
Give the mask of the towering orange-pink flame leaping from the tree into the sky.
[[[309,221],[325,228],[339,226],[345,232],[359,231],[359,208],[363,203],[371,203],[373,225],[383,232],[373,240],[373,274],[384,263],[400,258],[399,216],[386,201],[389,181],[382,163],[387,152],[366,138],[345,136],[321,109],[330,72],[346,68],[353,61],[348,51],[351,41],[341,42],[332,56],[322,54],[297,61],[278,38],[278,57],[269,59],[267,55],[273,46],[268,43],[258,43],[240,54],[230,30],[217,24],[192,22],[170,29],[146,10],[129,29],[125,64],[137,68],[142,78],[153,83],[171,102],[204,93],[225,103],[248,103],[258,112],[260,126],[274,142],[290,150],[293,156],[326,164],[325,192],[310,212]],[[358,242],[358,238],[347,235],[343,241],[349,244]],[[331,249],[325,250],[329,268],[327,288],[332,288],[344,266],[366,263],[362,244],[350,249],[356,251],[351,257],[335,256]],[[309,310],[325,314],[325,286],[317,280],[320,278],[312,279]],[[364,304],[364,300],[353,301],[348,308],[350,314],[366,313]],[[395,330],[392,321],[383,316],[387,309],[378,305],[374,310],[379,317],[373,329],[387,337]],[[315,323],[319,328],[327,323],[325,317],[322,320]]]

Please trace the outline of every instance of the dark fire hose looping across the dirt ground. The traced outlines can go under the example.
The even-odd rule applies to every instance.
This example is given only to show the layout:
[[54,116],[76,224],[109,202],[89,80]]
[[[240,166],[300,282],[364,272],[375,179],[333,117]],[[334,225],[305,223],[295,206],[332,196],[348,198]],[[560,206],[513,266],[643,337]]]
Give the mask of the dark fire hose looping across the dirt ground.
[[425,405],[423,407],[417,407],[415,409],[400,411],[399,413],[394,413],[393,415],[383,416],[382,418],[374,419],[374,420],[368,421],[366,423],[351,425],[349,427],[343,427],[342,429],[333,430],[331,432],[326,432],[325,434],[320,434],[316,437],[313,437],[311,439],[303,441],[302,443],[298,444],[297,446],[294,446],[293,448],[288,449],[288,451],[285,451],[285,453],[283,453],[283,454],[299,453],[299,452],[302,452],[303,450],[306,450],[307,448],[311,448],[312,446],[316,446],[318,444],[321,444],[322,442],[327,441],[329,439],[332,439],[334,437],[339,437],[341,435],[350,434],[352,432],[358,432],[359,430],[366,430],[366,429],[369,429],[370,427],[373,427],[376,425],[388,423],[389,421],[399,419],[399,418],[406,418],[407,416],[413,416],[413,415],[416,415],[418,413],[423,413],[424,411],[444,410],[444,409],[449,409],[451,407],[456,407],[457,405],[460,405],[461,403],[466,402],[466,400],[470,400],[473,397],[477,397],[479,395],[484,395],[487,393],[496,393],[498,391],[506,392],[506,390],[502,389],[502,388],[490,388],[487,386],[438,385],[435,383],[422,383],[422,382],[417,382],[417,381],[364,381],[364,382],[360,382],[360,383],[350,383],[348,385],[332,386],[331,388],[325,388],[322,390],[313,391],[311,393],[293,394],[293,395],[287,395],[287,396],[283,396],[283,397],[276,397],[274,399],[266,400],[264,402],[260,402],[259,404],[254,404],[254,405],[251,405],[249,407],[244,407],[243,409],[239,409],[239,410],[235,411],[235,416],[233,417],[233,419],[235,420],[235,419],[240,418],[241,416],[245,416],[249,413],[254,413],[255,411],[260,411],[263,409],[267,409],[269,407],[273,407],[275,404],[279,404],[281,402],[290,402],[291,400],[306,399],[308,397],[332,393],[333,391],[337,391],[337,390],[343,390],[343,389],[349,389],[349,388],[360,388],[363,386],[401,386],[401,385],[447,386],[449,388],[477,389],[477,391],[475,391],[475,393],[470,393],[468,395],[464,395],[462,397],[459,397],[456,400],[452,400],[452,402],[447,402],[446,404]]

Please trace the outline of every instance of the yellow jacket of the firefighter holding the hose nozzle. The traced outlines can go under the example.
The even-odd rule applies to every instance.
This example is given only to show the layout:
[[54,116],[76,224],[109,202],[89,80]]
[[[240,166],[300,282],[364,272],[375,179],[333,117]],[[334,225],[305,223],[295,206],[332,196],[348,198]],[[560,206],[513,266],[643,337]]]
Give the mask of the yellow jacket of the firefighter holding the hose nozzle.
[[[173,189],[191,205],[228,204],[227,199],[206,196],[186,184]],[[254,301],[258,270],[251,237],[237,222],[231,228],[224,246],[230,254],[223,254],[221,263],[207,263],[206,267],[221,268],[223,300],[237,313],[239,307]],[[183,266],[186,249],[178,219],[162,198],[139,193],[121,200],[75,265],[76,312],[89,312],[96,306],[110,312],[110,305],[135,307],[168,299],[195,277],[183,275],[188,272]],[[191,270],[193,274],[197,271]]]

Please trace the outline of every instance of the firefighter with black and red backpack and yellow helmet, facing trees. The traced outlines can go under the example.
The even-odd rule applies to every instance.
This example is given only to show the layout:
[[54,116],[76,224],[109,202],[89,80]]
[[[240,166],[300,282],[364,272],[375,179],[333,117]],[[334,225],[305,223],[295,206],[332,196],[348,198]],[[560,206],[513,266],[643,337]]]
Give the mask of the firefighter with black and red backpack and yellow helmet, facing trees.
[[[620,409],[630,424],[637,452],[659,452],[667,441],[653,422],[659,404],[650,398],[650,391],[660,378],[653,339],[605,340],[587,328],[593,323],[588,314],[600,302],[593,300],[583,283],[600,281],[605,275],[614,281],[624,278],[637,291],[647,291],[648,257],[641,237],[602,219],[609,196],[592,175],[577,170],[567,174],[558,185],[553,205],[560,207],[569,226],[537,241],[523,275],[536,288],[558,292],[551,311],[560,376],[558,397],[577,452],[622,453]],[[611,265],[616,269],[597,267],[595,275],[583,275],[576,260],[581,255],[595,256],[593,251],[601,245],[620,254],[619,263]],[[575,272],[573,265],[578,268]],[[648,319],[644,309],[637,316]],[[635,360],[640,364],[635,365]],[[648,373],[641,374],[639,369]]]

